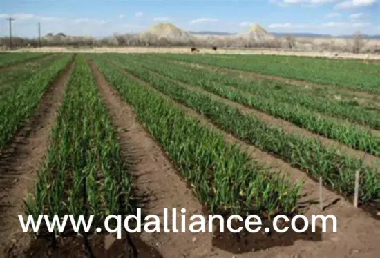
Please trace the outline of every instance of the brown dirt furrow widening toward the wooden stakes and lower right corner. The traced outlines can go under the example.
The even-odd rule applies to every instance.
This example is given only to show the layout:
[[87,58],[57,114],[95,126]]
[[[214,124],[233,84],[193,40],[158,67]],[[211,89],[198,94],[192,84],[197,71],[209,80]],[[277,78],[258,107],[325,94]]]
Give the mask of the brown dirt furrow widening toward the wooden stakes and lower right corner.
[[[217,128],[213,125],[212,121],[209,121],[209,119],[198,112],[184,106],[178,101],[174,101],[169,96],[155,90],[148,83],[141,81],[121,68],[117,69],[123,72],[124,75],[137,81],[144,88],[157,92],[165,99],[171,101],[173,105],[182,108],[187,115],[198,119],[202,126],[206,126],[216,132],[222,132],[226,142],[237,143],[241,150],[247,150],[251,158],[268,166],[269,171],[286,173],[294,182],[304,181],[301,189],[301,194],[304,196],[301,198],[300,205],[304,206],[302,210],[305,212],[304,215],[306,217],[310,218],[312,215],[334,215],[338,221],[336,233],[331,232],[331,224],[327,223],[327,232],[323,233],[323,241],[321,242],[296,241],[293,246],[276,246],[267,250],[239,254],[236,257],[376,257],[377,252],[380,251],[380,247],[377,244],[380,232],[374,232],[373,228],[380,226],[379,220],[373,219],[362,209],[354,208],[348,201],[325,188],[323,189],[324,209],[321,211],[319,203],[315,203],[315,201],[319,201],[319,184],[307,177],[305,172],[293,168],[289,163],[269,155],[267,152],[263,152],[254,146],[236,139],[233,135]],[[321,226],[320,223],[317,223],[317,225]],[[218,254],[215,257],[232,257],[232,255],[222,250],[217,250],[216,252]]]

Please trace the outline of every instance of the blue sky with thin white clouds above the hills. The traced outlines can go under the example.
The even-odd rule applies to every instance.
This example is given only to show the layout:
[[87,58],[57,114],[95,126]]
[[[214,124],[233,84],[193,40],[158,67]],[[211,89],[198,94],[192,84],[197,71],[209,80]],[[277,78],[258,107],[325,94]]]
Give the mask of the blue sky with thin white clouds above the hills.
[[0,36],[41,33],[108,36],[171,22],[184,30],[240,32],[259,23],[269,32],[380,34],[380,0],[12,0],[1,1]]

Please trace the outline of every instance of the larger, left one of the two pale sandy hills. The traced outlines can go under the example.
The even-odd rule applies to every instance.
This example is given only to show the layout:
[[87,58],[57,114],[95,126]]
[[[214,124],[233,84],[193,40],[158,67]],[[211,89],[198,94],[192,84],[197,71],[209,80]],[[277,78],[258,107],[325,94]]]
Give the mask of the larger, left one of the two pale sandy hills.
[[181,30],[171,23],[159,23],[148,30],[140,33],[140,37],[155,38],[158,40],[167,40],[171,43],[189,44],[196,39],[193,34]]

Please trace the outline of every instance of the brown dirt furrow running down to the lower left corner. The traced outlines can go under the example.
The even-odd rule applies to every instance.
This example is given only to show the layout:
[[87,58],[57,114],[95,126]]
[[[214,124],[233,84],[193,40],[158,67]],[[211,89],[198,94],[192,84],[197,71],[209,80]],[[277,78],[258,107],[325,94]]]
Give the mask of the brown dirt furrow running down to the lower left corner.
[[61,72],[45,92],[35,115],[21,128],[0,155],[0,257],[23,257],[30,235],[21,230],[23,198],[34,186],[37,170],[48,149],[50,131],[64,97],[74,64]]

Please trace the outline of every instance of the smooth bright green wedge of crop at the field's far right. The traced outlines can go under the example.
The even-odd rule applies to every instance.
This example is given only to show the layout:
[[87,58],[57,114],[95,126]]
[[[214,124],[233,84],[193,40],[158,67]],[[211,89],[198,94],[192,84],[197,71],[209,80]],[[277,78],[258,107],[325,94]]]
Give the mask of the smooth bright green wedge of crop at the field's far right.
[[281,56],[230,55],[226,58],[225,56],[168,54],[165,57],[380,94],[380,77],[378,76],[380,63]]

